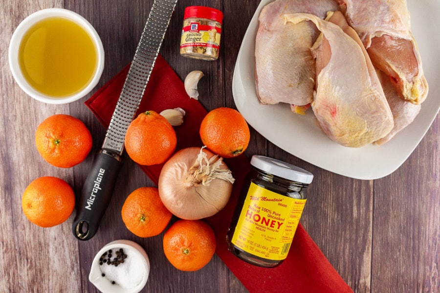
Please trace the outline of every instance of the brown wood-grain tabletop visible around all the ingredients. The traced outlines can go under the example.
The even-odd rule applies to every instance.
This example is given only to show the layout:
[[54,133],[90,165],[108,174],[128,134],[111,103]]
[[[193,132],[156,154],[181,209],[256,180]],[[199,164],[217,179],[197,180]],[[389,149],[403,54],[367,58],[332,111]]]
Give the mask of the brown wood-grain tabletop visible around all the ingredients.
[[[125,197],[137,187],[154,185],[126,155],[110,206],[91,240],[81,242],[74,238],[73,214],[62,225],[41,228],[22,213],[22,192],[37,177],[56,176],[66,180],[75,192],[81,190],[92,154],[105,135],[105,129],[84,102],[132,60],[152,2],[2,0],[0,292],[97,292],[88,281],[90,262],[100,248],[117,239],[139,243],[150,256],[152,270],[143,292],[246,292],[218,256],[201,270],[182,272],[166,260],[161,235],[142,239],[125,228],[120,216]],[[160,52],[182,79],[191,70],[205,73],[199,91],[200,102],[208,110],[235,108],[233,70],[241,39],[258,4],[258,0],[182,0],[177,4]],[[190,5],[211,6],[224,12],[221,56],[216,62],[179,56],[183,11]],[[49,7],[67,8],[84,16],[96,28],[106,54],[98,86],[87,97],[66,105],[31,99],[15,83],[8,66],[7,48],[14,29],[29,14]],[[35,148],[36,127],[55,113],[81,119],[93,136],[92,152],[73,168],[47,164]],[[251,130],[245,155],[250,158],[254,154],[279,158],[314,174],[301,221],[353,291],[440,291],[439,117],[403,165],[378,180],[333,174],[286,153]]]

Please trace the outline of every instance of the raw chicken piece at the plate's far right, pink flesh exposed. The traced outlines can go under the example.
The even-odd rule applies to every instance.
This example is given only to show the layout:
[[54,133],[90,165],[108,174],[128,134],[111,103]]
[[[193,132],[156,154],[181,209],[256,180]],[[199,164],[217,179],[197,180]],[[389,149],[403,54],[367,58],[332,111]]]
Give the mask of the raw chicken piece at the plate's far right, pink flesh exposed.
[[400,95],[414,104],[428,94],[406,0],[336,0],[367,48],[375,67],[395,81]]

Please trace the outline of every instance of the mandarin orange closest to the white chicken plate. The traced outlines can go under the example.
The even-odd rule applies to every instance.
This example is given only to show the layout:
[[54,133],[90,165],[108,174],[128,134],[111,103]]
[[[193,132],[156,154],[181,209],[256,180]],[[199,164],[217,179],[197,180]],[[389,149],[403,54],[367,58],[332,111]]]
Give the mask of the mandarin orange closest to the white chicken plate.
[[210,111],[200,124],[202,143],[223,158],[233,158],[246,150],[250,132],[241,113],[221,107]]

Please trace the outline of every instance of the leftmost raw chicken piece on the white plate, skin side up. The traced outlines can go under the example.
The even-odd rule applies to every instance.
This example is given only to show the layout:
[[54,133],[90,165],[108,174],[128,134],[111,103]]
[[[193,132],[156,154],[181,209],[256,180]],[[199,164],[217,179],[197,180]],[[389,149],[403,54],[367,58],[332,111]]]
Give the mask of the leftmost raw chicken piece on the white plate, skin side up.
[[310,47],[319,35],[310,22],[284,22],[284,14],[312,13],[324,18],[338,10],[333,0],[276,0],[263,7],[255,39],[257,94],[263,104],[303,106],[312,101],[315,61]]

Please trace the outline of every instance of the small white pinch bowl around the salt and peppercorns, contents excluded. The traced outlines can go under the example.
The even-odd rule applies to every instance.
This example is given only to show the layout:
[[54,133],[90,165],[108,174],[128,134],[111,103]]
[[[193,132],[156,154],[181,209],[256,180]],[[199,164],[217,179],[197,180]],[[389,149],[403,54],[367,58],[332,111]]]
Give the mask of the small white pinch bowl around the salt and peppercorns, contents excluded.
[[[140,283],[132,288],[122,288],[118,284],[112,284],[111,281],[102,276],[102,271],[99,265],[99,259],[104,254],[104,252],[109,249],[122,248],[126,254],[132,254],[141,260],[142,266],[138,270],[143,270],[144,274]],[[91,264],[90,273],[88,275],[88,280],[101,292],[103,293],[138,293],[144,288],[148,280],[148,275],[150,274],[150,260],[144,248],[142,248],[137,243],[130,240],[116,240],[112,241],[95,255],[93,262]]]

